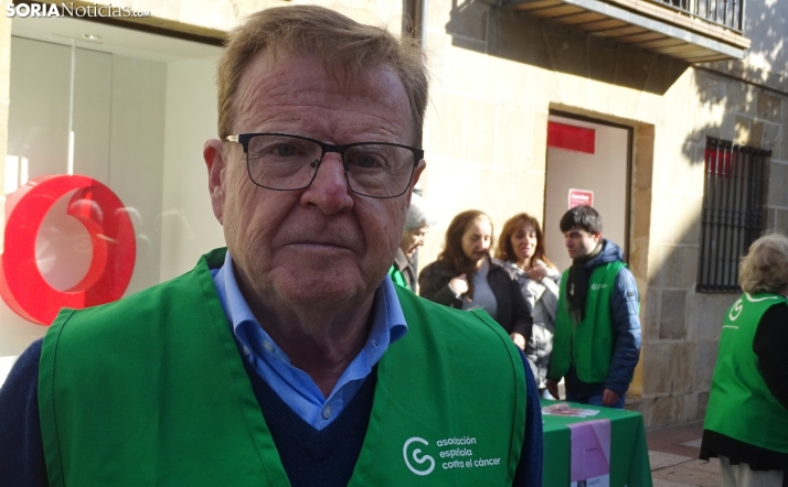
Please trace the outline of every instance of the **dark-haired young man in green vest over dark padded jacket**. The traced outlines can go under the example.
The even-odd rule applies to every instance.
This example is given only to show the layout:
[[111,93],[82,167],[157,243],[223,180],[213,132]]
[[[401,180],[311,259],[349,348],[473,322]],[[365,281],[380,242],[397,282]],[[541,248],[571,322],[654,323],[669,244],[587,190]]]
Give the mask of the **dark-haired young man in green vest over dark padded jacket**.
[[624,252],[601,238],[601,216],[575,206],[561,218],[572,267],[561,279],[547,389],[558,399],[624,408],[640,356],[640,296]]

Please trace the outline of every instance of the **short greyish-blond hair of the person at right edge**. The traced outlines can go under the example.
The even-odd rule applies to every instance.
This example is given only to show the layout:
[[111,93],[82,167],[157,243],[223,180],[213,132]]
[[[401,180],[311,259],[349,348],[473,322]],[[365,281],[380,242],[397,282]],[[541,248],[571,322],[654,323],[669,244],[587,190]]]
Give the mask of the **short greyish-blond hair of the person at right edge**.
[[769,234],[755,240],[738,266],[747,294],[782,293],[788,289],[788,237]]

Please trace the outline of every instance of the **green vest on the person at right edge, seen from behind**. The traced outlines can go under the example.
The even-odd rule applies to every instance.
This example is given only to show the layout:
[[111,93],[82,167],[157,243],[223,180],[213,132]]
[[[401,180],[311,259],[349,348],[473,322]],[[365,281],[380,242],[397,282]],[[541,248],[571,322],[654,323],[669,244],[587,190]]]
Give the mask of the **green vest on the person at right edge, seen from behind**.
[[753,351],[760,317],[786,302],[778,294],[744,294],[725,314],[703,428],[788,454],[788,411],[769,392]]

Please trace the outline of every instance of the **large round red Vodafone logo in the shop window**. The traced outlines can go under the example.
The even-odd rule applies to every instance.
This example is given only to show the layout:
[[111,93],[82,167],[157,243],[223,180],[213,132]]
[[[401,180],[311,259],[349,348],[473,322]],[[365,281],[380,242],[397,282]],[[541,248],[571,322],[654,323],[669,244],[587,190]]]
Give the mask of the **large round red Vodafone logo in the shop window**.
[[[60,291],[39,270],[35,238],[55,202],[75,190],[67,214],[87,230],[93,259],[78,283]],[[83,309],[118,300],[131,280],[136,252],[131,219],[109,187],[78,175],[36,177],[6,202],[0,295],[20,316],[50,325],[61,307]]]

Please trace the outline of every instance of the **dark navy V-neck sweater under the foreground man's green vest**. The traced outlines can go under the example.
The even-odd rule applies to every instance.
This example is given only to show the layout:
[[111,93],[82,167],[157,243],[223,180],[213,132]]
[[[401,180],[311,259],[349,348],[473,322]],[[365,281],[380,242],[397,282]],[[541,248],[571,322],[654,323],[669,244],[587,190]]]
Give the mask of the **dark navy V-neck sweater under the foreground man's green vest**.
[[[0,487],[46,487],[46,464],[39,422],[38,382],[42,340],[34,342],[17,360],[0,389]],[[542,414],[536,383],[525,356],[528,402],[525,440],[514,486],[542,485]],[[316,430],[296,414],[246,364],[283,466],[292,487],[345,486],[370,422],[376,369],[331,424]]]

